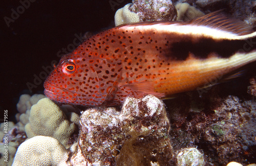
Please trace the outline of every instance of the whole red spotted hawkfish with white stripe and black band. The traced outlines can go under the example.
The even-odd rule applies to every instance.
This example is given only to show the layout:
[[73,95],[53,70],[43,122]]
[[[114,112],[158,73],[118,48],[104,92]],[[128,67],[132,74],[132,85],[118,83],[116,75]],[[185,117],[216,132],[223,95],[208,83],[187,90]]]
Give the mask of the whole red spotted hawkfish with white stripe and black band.
[[255,38],[245,22],[222,11],[189,22],[116,26],[62,56],[44,92],[88,106],[119,105],[127,96],[168,98],[256,61]]

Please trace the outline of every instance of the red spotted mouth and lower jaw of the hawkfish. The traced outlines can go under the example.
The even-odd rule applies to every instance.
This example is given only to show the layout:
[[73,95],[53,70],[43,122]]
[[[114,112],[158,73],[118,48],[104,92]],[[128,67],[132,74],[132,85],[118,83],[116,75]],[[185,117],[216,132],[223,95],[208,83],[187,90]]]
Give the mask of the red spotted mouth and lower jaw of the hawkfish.
[[50,86],[52,87],[51,91],[48,89],[44,90],[44,93],[48,98],[64,103],[74,103],[77,100],[77,97],[73,92],[54,85]]

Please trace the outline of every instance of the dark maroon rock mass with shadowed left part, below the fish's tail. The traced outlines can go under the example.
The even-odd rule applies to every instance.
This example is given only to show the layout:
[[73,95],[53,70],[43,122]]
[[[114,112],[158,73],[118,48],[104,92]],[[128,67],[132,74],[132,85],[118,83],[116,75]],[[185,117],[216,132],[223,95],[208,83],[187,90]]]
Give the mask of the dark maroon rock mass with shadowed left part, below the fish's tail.
[[255,162],[255,99],[219,97],[220,90],[216,86],[203,98],[189,92],[182,95],[182,100],[180,97],[166,102],[173,151],[196,146],[207,157],[206,165]]

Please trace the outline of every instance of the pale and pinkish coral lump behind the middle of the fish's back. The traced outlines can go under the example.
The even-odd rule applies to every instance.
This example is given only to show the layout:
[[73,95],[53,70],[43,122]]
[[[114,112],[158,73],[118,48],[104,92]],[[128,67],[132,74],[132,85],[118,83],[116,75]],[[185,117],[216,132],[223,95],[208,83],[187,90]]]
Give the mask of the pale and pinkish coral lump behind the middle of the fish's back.
[[144,21],[176,20],[177,11],[171,0],[134,0],[117,10],[115,24]]

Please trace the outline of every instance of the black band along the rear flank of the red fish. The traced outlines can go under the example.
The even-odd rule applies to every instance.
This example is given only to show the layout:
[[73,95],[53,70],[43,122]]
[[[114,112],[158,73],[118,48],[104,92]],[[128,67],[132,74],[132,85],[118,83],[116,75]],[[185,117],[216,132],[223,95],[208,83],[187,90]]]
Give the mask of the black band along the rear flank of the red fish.
[[[241,40],[216,40],[208,37],[198,37],[189,35],[185,37],[176,37],[181,39],[169,44],[166,50],[166,56],[172,57],[174,60],[186,60],[190,53],[193,53],[195,58],[207,59],[212,53],[219,58],[230,58],[234,53],[243,50],[245,41]],[[255,38],[252,41],[256,41]],[[250,51],[255,49],[251,47]],[[249,50],[247,50],[249,51]]]

